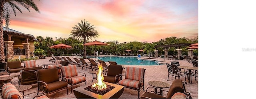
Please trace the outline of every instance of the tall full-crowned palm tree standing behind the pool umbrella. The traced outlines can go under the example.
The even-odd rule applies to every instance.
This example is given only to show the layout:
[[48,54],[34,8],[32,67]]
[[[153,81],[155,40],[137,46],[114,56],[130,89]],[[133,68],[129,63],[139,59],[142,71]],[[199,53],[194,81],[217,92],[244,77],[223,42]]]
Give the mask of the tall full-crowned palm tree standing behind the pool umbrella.
[[[85,22],[85,20],[84,22],[81,20],[81,23],[78,23],[78,26],[75,25],[73,29],[74,30],[70,32],[70,36],[80,39],[81,41],[83,40],[84,43],[86,43],[86,40],[89,40],[89,38],[92,40],[92,38],[99,36],[93,25],[91,25],[88,21]],[[86,49],[85,46],[84,49]],[[86,50],[84,50],[84,58],[86,58]]]

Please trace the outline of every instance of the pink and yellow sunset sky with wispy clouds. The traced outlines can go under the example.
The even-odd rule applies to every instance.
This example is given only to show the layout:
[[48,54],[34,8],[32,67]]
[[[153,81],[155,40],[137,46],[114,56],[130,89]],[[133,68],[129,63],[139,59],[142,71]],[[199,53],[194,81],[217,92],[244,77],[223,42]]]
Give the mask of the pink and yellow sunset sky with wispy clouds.
[[[24,7],[12,13],[9,28],[36,36],[68,38],[88,20],[102,42],[157,42],[198,36],[198,0],[34,0],[40,13]],[[18,10],[17,10],[18,11]]]

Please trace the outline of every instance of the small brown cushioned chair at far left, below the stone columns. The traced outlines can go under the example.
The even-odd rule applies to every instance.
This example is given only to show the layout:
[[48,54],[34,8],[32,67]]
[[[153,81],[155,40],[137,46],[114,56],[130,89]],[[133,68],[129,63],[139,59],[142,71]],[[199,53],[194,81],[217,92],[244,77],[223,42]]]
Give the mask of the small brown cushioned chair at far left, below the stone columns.
[[20,61],[8,61],[6,66],[8,73],[17,73],[23,69]]

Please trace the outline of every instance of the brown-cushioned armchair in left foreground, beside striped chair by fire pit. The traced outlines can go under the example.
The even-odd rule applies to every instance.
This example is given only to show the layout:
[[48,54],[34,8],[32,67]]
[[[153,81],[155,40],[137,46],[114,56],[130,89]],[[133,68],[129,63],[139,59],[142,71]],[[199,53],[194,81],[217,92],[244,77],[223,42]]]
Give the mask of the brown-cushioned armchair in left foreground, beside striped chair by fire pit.
[[66,77],[59,77],[57,68],[42,69],[35,71],[35,73],[38,90],[44,91],[48,95],[62,89],[67,89],[68,95],[68,83],[60,81],[61,78],[66,79]]

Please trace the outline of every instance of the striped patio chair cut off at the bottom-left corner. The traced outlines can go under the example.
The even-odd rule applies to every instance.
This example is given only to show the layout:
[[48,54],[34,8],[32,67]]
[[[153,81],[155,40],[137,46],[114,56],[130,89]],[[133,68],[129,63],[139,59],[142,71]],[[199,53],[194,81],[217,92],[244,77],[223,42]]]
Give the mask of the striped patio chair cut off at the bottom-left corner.
[[[28,93],[23,95],[16,89],[14,85],[11,83],[6,83],[2,87],[0,87],[1,97],[2,99],[23,99],[26,95],[31,95],[32,93],[41,93],[42,95],[35,95],[34,99],[49,99],[43,91],[34,91],[32,93]],[[37,98],[36,98],[37,97]]]

